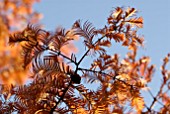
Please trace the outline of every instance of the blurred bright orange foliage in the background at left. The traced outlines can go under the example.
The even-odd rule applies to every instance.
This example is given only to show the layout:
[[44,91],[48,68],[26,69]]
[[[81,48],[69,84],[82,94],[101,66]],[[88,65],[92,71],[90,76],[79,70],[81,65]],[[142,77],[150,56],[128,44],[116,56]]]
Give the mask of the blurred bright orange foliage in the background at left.
[[23,84],[27,71],[22,64],[18,52],[21,47],[8,46],[9,34],[23,29],[28,21],[37,23],[41,14],[32,9],[32,5],[38,0],[0,0],[0,83]]

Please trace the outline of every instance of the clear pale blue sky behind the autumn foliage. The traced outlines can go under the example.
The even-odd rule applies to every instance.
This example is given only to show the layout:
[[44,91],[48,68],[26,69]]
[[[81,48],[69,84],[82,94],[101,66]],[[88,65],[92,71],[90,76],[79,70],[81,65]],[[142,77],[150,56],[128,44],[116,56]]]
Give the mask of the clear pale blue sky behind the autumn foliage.
[[[54,31],[57,26],[68,29],[78,19],[89,20],[102,28],[110,11],[117,6],[134,7],[139,11],[138,16],[144,18],[140,35],[145,37],[145,48],[140,49],[139,56],[150,56],[151,63],[157,66],[151,84],[155,94],[160,86],[162,59],[170,52],[170,0],[41,0],[34,9],[44,15],[41,24],[45,29]],[[80,45],[77,43],[77,46]],[[114,47],[113,51],[125,56],[120,46]]]

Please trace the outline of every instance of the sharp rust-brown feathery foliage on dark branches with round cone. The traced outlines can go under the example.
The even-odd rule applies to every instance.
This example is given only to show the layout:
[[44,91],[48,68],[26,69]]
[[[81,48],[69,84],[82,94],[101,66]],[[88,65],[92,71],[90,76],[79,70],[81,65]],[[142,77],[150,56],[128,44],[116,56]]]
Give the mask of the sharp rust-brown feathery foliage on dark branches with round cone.
[[[154,65],[150,65],[148,56],[136,57],[144,40],[137,35],[143,19],[136,13],[135,8],[117,7],[101,29],[77,20],[69,30],[58,28],[52,33],[28,24],[23,31],[10,35],[9,44],[22,47],[22,66],[30,68],[32,82],[1,85],[1,113],[168,113],[170,73],[166,65],[170,54],[163,61],[162,84],[154,96],[148,87]],[[77,36],[86,47],[80,59],[75,53],[69,56],[62,51]],[[128,47],[125,58],[108,53],[113,41]],[[82,61],[89,56],[92,63],[83,67]],[[141,90],[149,92],[151,103],[146,104]],[[160,109],[154,109],[156,103]]]

